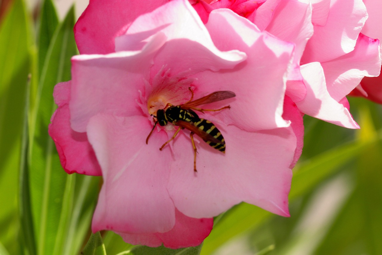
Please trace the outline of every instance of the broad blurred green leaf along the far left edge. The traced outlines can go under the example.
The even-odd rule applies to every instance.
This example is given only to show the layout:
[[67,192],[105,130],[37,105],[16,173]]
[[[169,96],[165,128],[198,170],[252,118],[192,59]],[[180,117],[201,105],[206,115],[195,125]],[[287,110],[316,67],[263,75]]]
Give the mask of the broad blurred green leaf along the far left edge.
[[28,74],[31,25],[22,0],[8,8],[0,27],[0,242],[19,253],[17,214],[19,151]]

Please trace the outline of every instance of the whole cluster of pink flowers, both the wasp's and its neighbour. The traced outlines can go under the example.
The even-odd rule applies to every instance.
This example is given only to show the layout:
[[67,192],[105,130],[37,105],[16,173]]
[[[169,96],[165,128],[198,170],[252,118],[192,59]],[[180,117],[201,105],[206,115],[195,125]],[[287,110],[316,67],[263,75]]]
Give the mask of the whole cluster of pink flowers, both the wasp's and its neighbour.
[[[49,134],[68,173],[102,175],[92,230],[126,242],[199,245],[212,217],[244,201],[289,216],[303,114],[358,128],[346,100],[379,75],[379,41],[361,34],[362,0],[91,0],[74,28],[81,55],[56,85]],[[225,154],[157,110],[215,91],[198,112]]]

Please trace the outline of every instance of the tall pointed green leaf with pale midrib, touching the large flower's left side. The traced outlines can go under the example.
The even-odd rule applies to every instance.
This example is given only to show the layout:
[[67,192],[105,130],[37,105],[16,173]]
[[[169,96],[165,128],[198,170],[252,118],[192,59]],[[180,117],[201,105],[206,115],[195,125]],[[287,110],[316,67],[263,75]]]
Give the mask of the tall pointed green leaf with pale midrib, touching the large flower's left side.
[[56,108],[53,87],[70,80],[70,59],[76,54],[73,26],[72,8],[57,27],[46,52],[30,120],[29,176],[38,254],[62,254],[66,240],[63,233],[69,225],[74,203],[76,176],[63,171],[47,132]]

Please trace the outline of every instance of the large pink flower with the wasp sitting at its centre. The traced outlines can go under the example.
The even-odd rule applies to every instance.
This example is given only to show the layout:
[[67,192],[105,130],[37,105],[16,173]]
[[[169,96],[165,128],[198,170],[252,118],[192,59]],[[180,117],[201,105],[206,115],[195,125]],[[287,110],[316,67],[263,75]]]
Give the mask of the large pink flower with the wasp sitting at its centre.
[[[205,24],[186,0],[93,0],[75,27],[82,55],[71,82],[59,83],[49,133],[68,173],[100,175],[104,184],[92,230],[126,242],[198,245],[212,217],[245,201],[289,216],[291,167],[302,148],[302,116],[285,96],[295,44],[261,32],[228,9]],[[230,90],[236,97],[203,105],[226,153],[187,129],[155,127],[167,103]],[[83,159],[83,160],[78,160]],[[74,163],[72,163],[72,161]]]

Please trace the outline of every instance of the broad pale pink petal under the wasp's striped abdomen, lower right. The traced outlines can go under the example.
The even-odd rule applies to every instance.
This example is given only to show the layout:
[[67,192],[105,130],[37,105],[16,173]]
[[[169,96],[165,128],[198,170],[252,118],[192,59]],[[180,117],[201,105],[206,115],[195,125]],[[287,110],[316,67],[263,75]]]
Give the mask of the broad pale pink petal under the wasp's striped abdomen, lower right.
[[212,217],[244,201],[289,216],[289,167],[296,149],[292,128],[246,132],[234,125],[215,124],[224,136],[226,153],[194,136],[196,173],[189,132],[178,134],[172,142],[168,191],[176,208],[189,217]]

